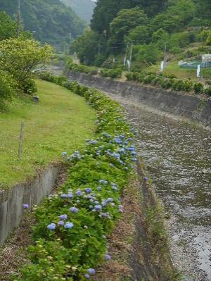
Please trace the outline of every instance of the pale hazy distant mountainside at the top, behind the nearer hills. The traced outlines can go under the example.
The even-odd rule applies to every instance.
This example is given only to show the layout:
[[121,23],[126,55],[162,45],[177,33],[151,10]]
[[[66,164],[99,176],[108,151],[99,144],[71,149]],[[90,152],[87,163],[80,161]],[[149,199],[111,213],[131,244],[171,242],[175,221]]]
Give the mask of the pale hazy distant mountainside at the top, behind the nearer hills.
[[71,7],[79,18],[86,20],[87,23],[90,22],[94,7],[96,6],[95,2],[91,0],[60,0],[60,2],[67,7]]

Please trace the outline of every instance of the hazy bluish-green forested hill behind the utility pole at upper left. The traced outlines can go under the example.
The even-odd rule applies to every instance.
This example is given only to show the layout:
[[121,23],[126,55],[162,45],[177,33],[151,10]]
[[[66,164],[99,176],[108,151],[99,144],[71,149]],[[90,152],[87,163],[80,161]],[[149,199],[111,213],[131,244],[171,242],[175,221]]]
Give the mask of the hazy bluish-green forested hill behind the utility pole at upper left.
[[[17,18],[17,9],[18,1],[0,1],[0,11],[6,11],[13,19]],[[70,43],[70,33],[75,38],[86,26],[72,8],[59,0],[21,0],[20,17],[24,30],[30,30],[35,39],[56,49],[64,49]]]

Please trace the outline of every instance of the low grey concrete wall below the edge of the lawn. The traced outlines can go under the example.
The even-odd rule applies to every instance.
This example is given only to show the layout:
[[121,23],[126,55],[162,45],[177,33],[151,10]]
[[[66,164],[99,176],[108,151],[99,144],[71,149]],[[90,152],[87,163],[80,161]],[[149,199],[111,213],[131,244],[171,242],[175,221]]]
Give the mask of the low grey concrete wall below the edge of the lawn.
[[34,177],[32,182],[16,185],[5,192],[0,190],[0,245],[20,223],[24,213],[23,204],[31,208],[51,192],[59,170],[60,167],[49,167]]

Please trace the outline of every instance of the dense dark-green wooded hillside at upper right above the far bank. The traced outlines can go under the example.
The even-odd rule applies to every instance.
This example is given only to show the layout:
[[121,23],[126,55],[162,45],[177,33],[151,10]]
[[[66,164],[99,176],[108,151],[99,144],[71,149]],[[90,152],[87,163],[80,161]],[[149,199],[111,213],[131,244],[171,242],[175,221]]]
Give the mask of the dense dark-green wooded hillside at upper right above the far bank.
[[210,27],[210,0],[98,0],[91,29],[72,49],[87,65],[101,66],[133,44],[134,60],[156,63],[165,46],[179,54],[191,44],[211,44]]

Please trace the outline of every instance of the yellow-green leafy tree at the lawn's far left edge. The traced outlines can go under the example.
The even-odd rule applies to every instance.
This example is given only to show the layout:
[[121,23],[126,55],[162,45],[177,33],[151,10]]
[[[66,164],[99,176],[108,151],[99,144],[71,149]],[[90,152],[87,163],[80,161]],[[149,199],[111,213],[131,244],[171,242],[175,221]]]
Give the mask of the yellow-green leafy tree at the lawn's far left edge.
[[20,36],[1,41],[0,49],[0,70],[12,75],[21,91],[27,94],[35,92],[32,70],[38,64],[49,63],[51,46],[41,46],[33,39]]

